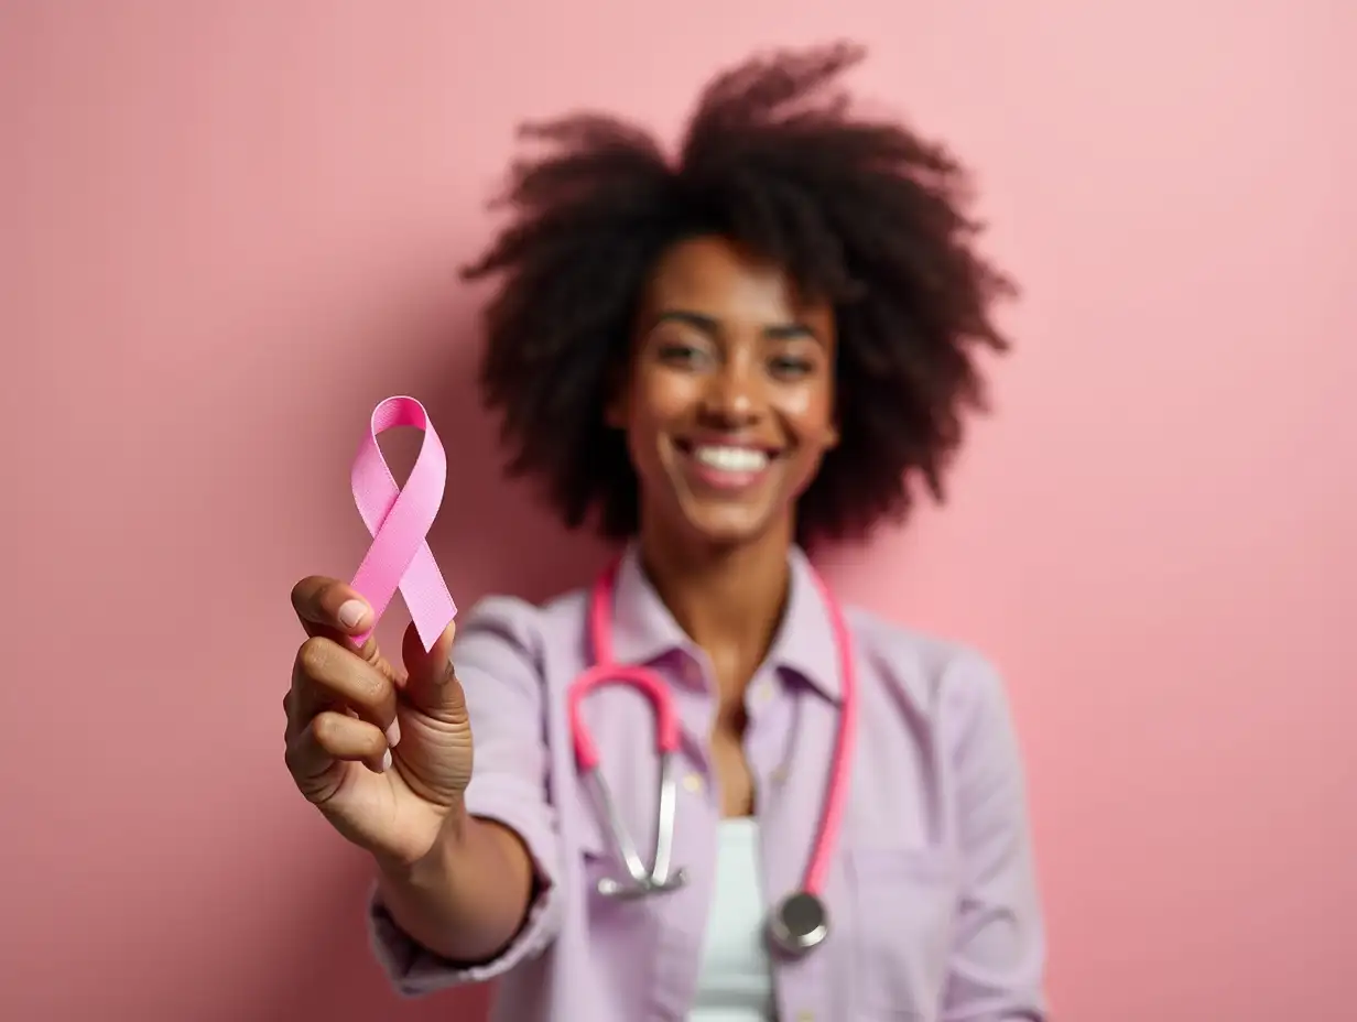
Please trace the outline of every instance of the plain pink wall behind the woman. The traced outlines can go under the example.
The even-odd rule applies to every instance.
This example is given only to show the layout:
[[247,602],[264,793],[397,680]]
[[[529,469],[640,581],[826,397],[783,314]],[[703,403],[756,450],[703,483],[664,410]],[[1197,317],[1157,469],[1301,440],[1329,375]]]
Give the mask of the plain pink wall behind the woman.
[[467,1017],[385,991],[364,859],[284,772],[288,589],[357,565],[396,392],[449,441],[464,605],[585,578],[467,385],[512,129],[669,130],[839,34],[1026,286],[950,508],[830,573],[1004,666],[1057,1018],[1353,1017],[1357,8],[805,7],[0,3],[0,1017]]

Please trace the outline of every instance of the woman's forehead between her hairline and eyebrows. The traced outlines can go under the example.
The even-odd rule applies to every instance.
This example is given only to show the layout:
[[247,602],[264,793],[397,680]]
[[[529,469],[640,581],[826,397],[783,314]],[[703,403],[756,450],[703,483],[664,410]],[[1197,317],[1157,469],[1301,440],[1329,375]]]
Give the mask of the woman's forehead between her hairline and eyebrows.
[[716,236],[672,246],[655,263],[646,288],[647,309],[703,312],[721,319],[783,322],[821,312],[806,301],[775,263]]

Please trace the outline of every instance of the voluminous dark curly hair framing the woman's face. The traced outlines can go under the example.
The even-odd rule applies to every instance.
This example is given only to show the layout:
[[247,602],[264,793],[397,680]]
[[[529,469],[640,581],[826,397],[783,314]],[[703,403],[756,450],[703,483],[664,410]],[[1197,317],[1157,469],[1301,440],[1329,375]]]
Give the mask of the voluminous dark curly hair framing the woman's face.
[[797,508],[798,540],[902,521],[912,479],[944,498],[966,410],[985,409],[974,349],[1006,350],[995,299],[1014,285],[973,248],[968,175],[905,126],[855,118],[836,86],[864,52],[835,43],[754,57],[703,91],[678,159],[601,114],[529,124],[493,208],[513,216],[465,280],[490,300],[480,387],[512,451],[569,528],[635,535],[639,497],[604,407],[628,364],[662,252],[719,235],[832,303],[840,442]]

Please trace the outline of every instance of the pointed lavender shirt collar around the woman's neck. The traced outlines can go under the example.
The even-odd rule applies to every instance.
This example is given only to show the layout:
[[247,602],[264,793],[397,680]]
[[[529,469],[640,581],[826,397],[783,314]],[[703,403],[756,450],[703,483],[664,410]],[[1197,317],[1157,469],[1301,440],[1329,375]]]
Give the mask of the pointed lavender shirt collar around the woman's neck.
[[[829,699],[841,694],[839,647],[829,608],[805,552],[788,555],[791,592],[767,664],[790,670]],[[696,653],[641,566],[632,543],[617,565],[612,612],[613,656],[622,664],[654,664],[676,650]]]

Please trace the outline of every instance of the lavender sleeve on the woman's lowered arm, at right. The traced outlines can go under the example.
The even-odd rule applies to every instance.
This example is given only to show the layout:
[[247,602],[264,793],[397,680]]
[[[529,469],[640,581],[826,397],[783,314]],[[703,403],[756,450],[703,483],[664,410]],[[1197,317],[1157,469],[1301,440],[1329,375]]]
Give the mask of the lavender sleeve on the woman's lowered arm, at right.
[[965,694],[951,749],[962,892],[942,1019],[1044,1022],[1045,924],[1008,699],[982,658],[954,670]]

